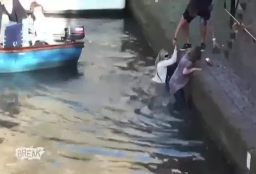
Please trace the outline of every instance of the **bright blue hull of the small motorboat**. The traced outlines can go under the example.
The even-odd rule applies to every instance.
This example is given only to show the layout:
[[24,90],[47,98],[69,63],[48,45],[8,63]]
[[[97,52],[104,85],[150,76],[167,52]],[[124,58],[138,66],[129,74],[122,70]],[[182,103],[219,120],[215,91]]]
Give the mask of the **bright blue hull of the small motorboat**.
[[0,73],[61,67],[71,62],[76,64],[81,52],[82,47],[64,47],[24,52],[0,52]]

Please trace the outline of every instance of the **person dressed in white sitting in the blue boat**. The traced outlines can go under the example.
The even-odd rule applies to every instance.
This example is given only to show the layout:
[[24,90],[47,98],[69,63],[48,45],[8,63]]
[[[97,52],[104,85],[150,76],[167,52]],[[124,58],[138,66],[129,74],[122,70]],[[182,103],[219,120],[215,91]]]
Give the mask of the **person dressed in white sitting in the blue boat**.
[[38,44],[52,44],[54,43],[52,32],[50,32],[47,27],[48,23],[46,17],[44,16],[44,8],[42,5],[32,2],[30,5],[30,10],[32,15],[29,18],[32,18],[33,24],[31,32],[35,35],[32,40],[33,45]]

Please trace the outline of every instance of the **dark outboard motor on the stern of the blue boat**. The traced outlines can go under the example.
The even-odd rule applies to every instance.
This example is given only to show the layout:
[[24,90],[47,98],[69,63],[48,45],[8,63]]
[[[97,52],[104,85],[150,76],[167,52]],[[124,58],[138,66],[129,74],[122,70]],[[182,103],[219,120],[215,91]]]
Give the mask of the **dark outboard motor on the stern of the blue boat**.
[[76,40],[82,40],[85,37],[83,25],[76,25],[64,28],[64,31],[65,35],[61,37],[61,40],[64,41],[70,40],[72,42],[75,42]]

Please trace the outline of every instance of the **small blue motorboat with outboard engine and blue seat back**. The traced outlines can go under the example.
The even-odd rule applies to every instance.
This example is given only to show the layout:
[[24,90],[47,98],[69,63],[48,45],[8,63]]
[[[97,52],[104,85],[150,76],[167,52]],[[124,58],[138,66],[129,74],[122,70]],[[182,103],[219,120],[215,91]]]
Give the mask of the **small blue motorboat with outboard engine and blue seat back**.
[[10,24],[5,28],[3,47],[0,48],[0,73],[35,71],[64,65],[76,66],[84,42],[84,27],[64,28],[64,36],[56,44],[24,46],[22,24]]

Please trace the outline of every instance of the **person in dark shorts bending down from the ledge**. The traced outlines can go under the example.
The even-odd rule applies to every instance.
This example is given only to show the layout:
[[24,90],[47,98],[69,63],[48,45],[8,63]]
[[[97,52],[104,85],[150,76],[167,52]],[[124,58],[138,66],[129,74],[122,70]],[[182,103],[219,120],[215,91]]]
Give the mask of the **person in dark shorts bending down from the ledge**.
[[180,19],[179,24],[177,25],[176,32],[173,39],[173,44],[176,45],[177,36],[182,28],[185,36],[187,37],[187,43],[180,48],[181,51],[189,50],[192,48],[192,44],[190,43],[189,36],[189,24],[196,17],[200,16],[200,33],[201,33],[201,51],[205,50],[205,37],[207,34],[207,25],[212,29],[212,41],[213,45],[216,44],[216,39],[214,37],[214,30],[211,18],[211,12],[213,8],[213,0],[190,0],[187,8],[185,9],[183,16]]

